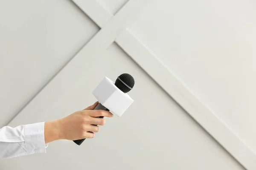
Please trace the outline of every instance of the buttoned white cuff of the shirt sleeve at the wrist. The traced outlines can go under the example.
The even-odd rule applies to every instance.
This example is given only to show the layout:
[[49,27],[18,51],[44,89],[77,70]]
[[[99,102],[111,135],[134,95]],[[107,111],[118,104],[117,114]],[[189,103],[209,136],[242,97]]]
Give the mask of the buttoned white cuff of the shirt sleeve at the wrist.
[[25,125],[25,144],[28,155],[33,153],[46,153],[44,141],[44,122]]

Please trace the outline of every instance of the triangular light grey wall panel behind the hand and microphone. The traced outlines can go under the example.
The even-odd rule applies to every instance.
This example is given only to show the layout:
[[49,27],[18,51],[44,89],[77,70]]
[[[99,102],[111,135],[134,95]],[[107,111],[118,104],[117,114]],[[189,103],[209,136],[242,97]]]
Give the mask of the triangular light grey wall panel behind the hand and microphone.
[[[115,44],[102,54],[101,60],[90,64],[72,88],[60,97],[53,96],[55,103],[40,110],[26,109],[11,125],[58,119],[84,108],[95,101],[91,91],[102,77],[115,79],[123,72],[136,80],[130,92],[135,102],[122,117],[107,119],[94,139],[86,139],[80,146],[72,141],[52,142],[46,154],[0,160],[1,167],[4,170],[243,169]],[[45,103],[41,101],[41,105]]]

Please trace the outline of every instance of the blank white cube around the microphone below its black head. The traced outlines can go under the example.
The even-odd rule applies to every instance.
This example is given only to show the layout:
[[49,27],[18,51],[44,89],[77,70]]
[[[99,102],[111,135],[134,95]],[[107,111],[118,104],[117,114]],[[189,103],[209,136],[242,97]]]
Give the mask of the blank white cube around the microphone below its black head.
[[134,102],[128,94],[117,88],[108,77],[105,77],[92,93],[105,108],[119,117]]

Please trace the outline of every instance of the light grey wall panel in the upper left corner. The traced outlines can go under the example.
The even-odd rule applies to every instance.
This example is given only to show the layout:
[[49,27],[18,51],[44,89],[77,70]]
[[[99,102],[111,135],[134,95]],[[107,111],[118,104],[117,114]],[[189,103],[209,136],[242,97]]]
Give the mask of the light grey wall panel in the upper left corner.
[[98,30],[70,0],[0,1],[0,126]]

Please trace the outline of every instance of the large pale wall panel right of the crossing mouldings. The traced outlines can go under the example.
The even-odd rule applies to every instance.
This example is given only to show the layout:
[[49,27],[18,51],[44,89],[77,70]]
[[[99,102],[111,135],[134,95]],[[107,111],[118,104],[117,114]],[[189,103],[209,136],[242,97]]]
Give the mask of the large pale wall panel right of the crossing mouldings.
[[256,153],[256,1],[157,0],[129,27]]

